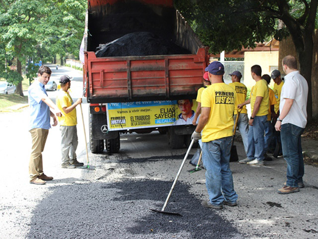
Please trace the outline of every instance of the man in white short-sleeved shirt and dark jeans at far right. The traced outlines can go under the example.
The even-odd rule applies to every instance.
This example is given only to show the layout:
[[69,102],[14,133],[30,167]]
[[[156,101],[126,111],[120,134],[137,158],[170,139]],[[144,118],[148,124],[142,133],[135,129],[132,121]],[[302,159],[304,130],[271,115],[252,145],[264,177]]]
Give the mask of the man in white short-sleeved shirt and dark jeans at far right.
[[285,56],[282,65],[286,76],[275,129],[281,131],[283,156],[287,162],[287,181],[278,193],[289,194],[299,192],[299,188],[304,187],[301,135],[307,124],[308,84],[297,70],[294,56]]

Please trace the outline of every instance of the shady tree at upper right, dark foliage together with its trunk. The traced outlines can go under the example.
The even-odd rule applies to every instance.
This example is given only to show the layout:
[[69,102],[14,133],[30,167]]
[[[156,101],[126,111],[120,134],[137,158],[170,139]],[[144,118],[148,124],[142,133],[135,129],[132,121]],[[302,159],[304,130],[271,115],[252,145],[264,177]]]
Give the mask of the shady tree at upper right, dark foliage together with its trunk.
[[[318,0],[175,0],[176,8],[212,53],[254,46],[274,36],[291,36],[300,73],[311,89],[313,33],[318,25]],[[281,24],[283,23],[283,24]],[[308,95],[312,119],[312,93]]]

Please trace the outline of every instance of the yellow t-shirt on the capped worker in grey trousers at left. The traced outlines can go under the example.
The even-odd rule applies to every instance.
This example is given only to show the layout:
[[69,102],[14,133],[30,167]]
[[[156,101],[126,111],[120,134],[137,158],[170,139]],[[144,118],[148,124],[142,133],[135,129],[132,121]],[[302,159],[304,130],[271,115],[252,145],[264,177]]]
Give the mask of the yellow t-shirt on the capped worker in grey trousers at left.
[[56,105],[60,111],[64,114],[62,117],[58,117],[60,125],[63,126],[74,126],[78,123],[76,117],[76,109],[71,111],[69,114],[66,114],[63,111],[64,107],[70,107],[73,105],[73,100],[68,92],[60,90],[56,96]]

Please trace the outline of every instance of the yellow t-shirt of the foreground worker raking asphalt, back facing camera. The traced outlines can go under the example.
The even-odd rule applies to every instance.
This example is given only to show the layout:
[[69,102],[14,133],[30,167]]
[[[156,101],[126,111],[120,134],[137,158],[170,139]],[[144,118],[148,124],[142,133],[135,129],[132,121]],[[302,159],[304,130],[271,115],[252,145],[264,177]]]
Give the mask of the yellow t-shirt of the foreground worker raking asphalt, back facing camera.
[[225,83],[212,84],[202,92],[201,107],[209,107],[210,116],[202,130],[202,142],[233,135],[236,93]]

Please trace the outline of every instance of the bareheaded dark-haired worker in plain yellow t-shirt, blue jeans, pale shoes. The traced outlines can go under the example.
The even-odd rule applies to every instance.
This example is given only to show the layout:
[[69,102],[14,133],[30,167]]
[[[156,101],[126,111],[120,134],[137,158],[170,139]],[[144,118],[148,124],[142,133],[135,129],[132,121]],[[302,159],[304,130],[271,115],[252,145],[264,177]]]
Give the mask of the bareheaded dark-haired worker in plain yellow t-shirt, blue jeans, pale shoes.
[[255,80],[255,85],[251,91],[251,97],[244,103],[238,105],[241,109],[244,105],[250,103],[251,117],[248,120],[248,149],[247,158],[239,160],[239,163],[247,163],[248,165],[264,164],[264,130],[267,120],[269,97],[267,82],[262,79],[262,69],[259,65],[251,67],[251,75]]

